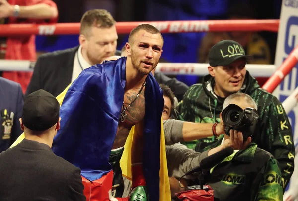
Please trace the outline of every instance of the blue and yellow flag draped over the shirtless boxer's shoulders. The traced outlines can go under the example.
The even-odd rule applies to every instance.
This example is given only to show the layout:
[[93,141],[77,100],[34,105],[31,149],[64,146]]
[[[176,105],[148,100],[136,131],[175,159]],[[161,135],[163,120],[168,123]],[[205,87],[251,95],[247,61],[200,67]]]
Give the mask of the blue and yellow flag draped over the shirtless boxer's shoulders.
[[[108,159],[124,99],[125,69],[126,57],[94,65],[81,72],[57,97],[62,102],[61,128],[52,149],[56,155],[79,167],[82,176],[90,181],[112,170]],[[159,197],[159,183],[164,182],[164,178],[159,178],[160,167],[167,168],[166,160],[162,160],[165,166],[161,165],[159,157],[161,152],[165,152],[161,145],[164,139],[160,140],[163,104],[162,91],[150,73],[145,87],[143,130],[143,167],[149,201],[162,201],[162,195],[170,191],[168,186],[168,191],[160,192]],[[22,134],[13,145],[23,137]],[[127,146],[131,147],[131,144]],[[170,199],[170,195],[166,197]]]

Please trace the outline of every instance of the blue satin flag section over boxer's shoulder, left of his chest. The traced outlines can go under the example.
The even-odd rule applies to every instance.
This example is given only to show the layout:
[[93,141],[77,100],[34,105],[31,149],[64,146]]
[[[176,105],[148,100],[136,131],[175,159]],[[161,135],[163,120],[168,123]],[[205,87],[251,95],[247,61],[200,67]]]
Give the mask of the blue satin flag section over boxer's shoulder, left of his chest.
[[60,109],[54,153],[81,169],[90,181],[111,171],[109,155],[124,97],[125,61],[92,66],[75,79]]

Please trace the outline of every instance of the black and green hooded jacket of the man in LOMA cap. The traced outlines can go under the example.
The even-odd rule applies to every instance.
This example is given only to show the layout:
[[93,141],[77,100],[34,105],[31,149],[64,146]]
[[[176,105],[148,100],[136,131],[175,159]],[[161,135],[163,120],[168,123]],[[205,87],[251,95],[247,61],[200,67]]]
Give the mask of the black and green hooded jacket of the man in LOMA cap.
[[[205,81],[204,81],[205,80]],[[213,88],[214,79],[207,75],[203,84],[194,84],[185,93],[183,100],[178,104],[179,119],[196,123],[220,122],[220,113],[224,100],[216,98],[209,88]],[[211,89],[212,90],[212,89]],[[260,88],[256,79],[246,72],[245,81],[240,92],[250,95],[258,106],[259,121],[256,131],[252,135],[252,142],[258,147],[270,152],[279,162],[284,179],[284,189],[294,170],[295,147],[292,137],[292,128],[288,116],[281,102],[272,94]],[[188,142],[189,148],[202,152],[209,143],[217,141],[214,138],[200,139]]]

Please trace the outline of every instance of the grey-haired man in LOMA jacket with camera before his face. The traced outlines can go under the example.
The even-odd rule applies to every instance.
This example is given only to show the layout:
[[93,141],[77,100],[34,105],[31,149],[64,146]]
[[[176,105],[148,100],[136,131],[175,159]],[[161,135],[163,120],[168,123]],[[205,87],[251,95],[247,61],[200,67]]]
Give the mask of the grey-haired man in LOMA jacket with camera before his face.
[[[223,109],[220,118],[226,133],[208,148],[220,146],[226,140],[246,141],[255,129],[257,105],[249,95],[235,93],[228,96]],[[283,181],[278,162],[269,152],[257,148],[255,143],[245,149],[234,150],[232,155],[210,170],[207,178],[206,184],[211,186],[215,198],[220,201],[283,200]]]

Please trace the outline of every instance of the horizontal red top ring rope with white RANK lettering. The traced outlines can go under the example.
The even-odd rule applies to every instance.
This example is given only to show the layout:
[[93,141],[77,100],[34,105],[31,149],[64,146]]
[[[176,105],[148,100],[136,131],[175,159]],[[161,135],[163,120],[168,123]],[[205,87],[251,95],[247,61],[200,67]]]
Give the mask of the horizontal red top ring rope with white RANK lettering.
[[[139,24],[152,24],[162,33],[208,32],[208,31],[272,31],[277,32],[279,20],[201,20],[201,21],[155,21],[117,22],[118,34],[128,34]],[[58,24],[3,24],[0,36],[19,35],[69,35],[79,34],[80,23]]]

